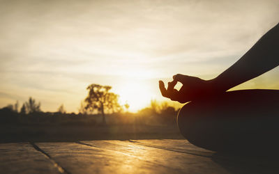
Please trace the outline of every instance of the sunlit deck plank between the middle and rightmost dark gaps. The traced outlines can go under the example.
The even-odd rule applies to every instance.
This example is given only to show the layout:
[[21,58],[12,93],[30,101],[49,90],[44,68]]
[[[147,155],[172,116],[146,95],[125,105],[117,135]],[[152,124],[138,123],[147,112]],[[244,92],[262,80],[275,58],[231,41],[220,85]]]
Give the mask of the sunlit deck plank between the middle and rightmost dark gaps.
[[[171,170],[171,173],[227,173],[224,168],[209,157],[151,148],[129,141],[82,141],[82,143],[93,145],[100,149],[122,152],[133,156],[134,159],[153,164],[154,171],[151,173],[157,172],[156,166],[165,166],[165,168]],[[163,173],[169,172],[163,171]]]

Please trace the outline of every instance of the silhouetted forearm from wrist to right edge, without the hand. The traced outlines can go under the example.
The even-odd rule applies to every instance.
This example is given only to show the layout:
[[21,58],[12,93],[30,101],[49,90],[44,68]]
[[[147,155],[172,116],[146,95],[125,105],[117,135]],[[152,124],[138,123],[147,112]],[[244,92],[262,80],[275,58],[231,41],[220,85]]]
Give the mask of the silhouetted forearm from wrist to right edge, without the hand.
[[229,90],[279,65],[279,24],[260,38],[239,61],[213,79],[218,90]]

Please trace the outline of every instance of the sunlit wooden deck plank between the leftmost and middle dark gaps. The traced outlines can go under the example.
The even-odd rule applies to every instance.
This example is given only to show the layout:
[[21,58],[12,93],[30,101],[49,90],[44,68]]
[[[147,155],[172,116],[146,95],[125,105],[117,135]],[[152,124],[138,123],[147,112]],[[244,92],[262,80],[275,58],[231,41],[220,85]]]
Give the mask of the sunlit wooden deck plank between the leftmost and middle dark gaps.
[[[68,173],[181,173],[137,156],[80,143],[36,143]],[[137,149],[135,149],[137,150]]]

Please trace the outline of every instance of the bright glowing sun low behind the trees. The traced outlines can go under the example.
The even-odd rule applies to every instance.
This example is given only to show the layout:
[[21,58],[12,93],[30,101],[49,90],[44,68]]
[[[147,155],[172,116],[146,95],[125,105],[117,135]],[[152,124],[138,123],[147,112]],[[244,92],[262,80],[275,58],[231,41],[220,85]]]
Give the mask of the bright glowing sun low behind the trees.
[[153,97],[151,86],[144,84],[142,81],[127,81],[118,88],[115,92],[120,95],[120,104],[128,103],[130,105],[128,111],[136,112],[150,103]]

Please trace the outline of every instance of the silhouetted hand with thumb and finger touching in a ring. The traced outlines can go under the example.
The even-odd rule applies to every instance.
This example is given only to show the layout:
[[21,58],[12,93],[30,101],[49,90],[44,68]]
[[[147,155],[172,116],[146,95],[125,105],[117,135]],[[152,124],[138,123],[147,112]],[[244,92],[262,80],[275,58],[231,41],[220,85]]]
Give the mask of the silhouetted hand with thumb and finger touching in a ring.
[[[176,74],[173,81],[168,83],[167,89],[163,81],[159,81],[159,88],[164,97],[173,101],[185,103],[192,100],[197,100],[213,94],[213,88],[210,81],[199,79],[198,77],[191,77],[183,74]],[[183,85],[180,90],[174,89],[177,82]]]

